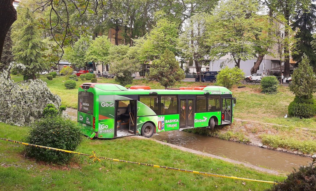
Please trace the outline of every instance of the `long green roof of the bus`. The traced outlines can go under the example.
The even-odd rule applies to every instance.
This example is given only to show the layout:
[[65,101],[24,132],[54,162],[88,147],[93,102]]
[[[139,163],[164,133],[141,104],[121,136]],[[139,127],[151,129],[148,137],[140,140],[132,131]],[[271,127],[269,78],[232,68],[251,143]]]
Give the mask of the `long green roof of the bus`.
[[92,92],[94,95],[128,95],[128,94],[232,94],[226,87],[205,86],[203,90],[178,89],[127,89],[111,83],[84,83],[79,91]]

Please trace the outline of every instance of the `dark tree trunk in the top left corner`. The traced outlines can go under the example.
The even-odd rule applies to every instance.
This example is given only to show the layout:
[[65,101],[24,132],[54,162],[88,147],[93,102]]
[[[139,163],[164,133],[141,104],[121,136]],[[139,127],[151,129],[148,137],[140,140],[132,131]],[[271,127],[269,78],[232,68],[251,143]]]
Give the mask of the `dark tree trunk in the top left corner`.
[[11,27],[16,21],[16,10],[13,7],[14,0],[2,0],[0,3],[0,60],[3,51],[5,37]]

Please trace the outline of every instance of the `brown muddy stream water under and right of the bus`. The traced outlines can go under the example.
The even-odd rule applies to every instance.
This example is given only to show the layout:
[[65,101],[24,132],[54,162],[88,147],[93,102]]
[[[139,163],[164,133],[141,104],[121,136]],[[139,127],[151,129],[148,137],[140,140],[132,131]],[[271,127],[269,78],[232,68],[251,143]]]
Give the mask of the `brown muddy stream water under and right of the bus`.
[[207,152],[210,154],[267,167],[274,170],[290,172],[293,168],[306,165],[311,158],[299,155],[278,152],[269,149],[221,140],[205,135],[193,134],[184,131],[161,132],[152,137],[156,140]]

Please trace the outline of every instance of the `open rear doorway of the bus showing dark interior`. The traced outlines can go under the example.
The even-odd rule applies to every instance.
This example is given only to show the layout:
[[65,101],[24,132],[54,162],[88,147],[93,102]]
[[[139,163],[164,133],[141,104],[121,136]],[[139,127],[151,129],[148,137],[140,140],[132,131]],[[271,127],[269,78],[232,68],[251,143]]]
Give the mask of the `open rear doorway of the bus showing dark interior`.
[[115,101],[115,137],[129,136],[136,134],[137,100],[116,100]]

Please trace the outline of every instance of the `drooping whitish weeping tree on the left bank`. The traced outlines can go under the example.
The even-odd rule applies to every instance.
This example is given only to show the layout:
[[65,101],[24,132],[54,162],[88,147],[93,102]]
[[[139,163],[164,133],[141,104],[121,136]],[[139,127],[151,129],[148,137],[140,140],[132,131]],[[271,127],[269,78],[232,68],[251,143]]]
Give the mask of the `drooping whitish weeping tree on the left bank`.
[[[0,72],[0,121],[15,124],[29,125],[38,119],[47,104],[60,106],[61,99],[54,95],[47,87],[46,82],[36,79],[15,82],[8,79],[9,68]],[[16,64],[15,69],[23,72],[26,67]]]

